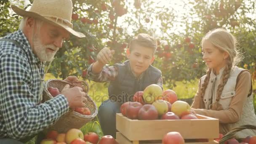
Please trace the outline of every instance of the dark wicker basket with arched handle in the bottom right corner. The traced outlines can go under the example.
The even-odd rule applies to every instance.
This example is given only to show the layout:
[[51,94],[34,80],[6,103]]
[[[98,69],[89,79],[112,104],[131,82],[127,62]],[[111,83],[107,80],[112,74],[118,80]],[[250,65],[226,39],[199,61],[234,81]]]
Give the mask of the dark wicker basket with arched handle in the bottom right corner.
[[238,131],[242,131],[244,129],[254,129],[256,130],[256,125],[241,125],[237,128],[233,128],[231,131],[229,131],[223,138],[219,141],[220,144],[224,144],[225,141],[233,138],[232,136],[237,133]]

